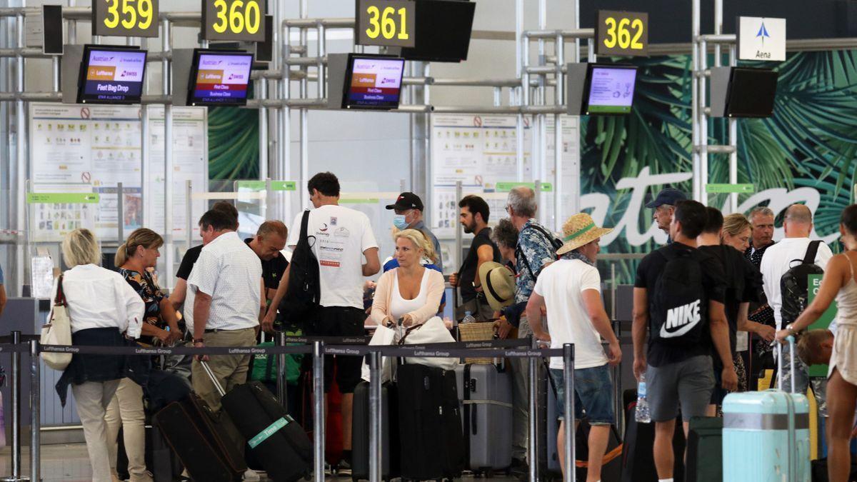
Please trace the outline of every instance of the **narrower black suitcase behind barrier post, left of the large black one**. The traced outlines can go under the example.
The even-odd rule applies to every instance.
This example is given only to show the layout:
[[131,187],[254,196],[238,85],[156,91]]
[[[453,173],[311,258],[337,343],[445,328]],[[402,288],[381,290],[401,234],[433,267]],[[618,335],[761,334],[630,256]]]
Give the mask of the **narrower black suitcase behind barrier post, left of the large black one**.
[[[396,389],[391,383],[381,385],[381,479],[399,475],[399,420]],[[393,423],[393,427],[391,427]],[[369,382],[354,389],[351,418],[351,479],[369,479]]]

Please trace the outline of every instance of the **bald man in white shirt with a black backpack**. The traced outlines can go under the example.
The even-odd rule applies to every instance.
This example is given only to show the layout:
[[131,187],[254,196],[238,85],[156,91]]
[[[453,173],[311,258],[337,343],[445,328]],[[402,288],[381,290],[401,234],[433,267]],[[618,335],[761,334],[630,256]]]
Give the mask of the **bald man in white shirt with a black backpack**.
[[[774,310],[774,320],[776,321],[776,329],[782,329],[782,293],[780,292],[780,280],[782,275],[788,269],[796,266],[798,263],[794,260],[802,260],[806,256],[806,250],[809,248],[810,234],[812,233],[812,211],[803,204],[792,204],[786,210],[786,215],[782,220],[782,228],[786,232],[786,237],[777,244],[773,244],[764,251],[762,256],[762,264],[759,269],[762,271],[764,281],[764,294],[768,298],[768,304]],[[827,244],[822,243],[818,246],[818,252],[815,256],[815,264],[824,269],[827,262],[833,253]],[[791,369],[790,360],[792,353],[788,346],[782,349],[782,380],[785,385],[782,389],[789,391],[791,389]],[[800,361],[799,357],[794,357],[794,385],[795,391],[798,393],[806,393],[806,387],[809,385],[809,375],[806,371],[806,365]],[[819,399],[819,410],[824,407],[824,387],[817,387],[813,383],[812,391],[816,393]],[[824,412],[823,412],[824,413]]]

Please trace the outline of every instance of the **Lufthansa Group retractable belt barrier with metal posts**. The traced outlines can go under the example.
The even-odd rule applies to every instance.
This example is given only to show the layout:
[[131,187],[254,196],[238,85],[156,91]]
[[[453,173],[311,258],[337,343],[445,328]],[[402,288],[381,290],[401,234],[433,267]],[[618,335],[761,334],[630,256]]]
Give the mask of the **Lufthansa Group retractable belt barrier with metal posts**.
[[[64,346],[41,345],[38,335],[23,335],[13,332],[9,336],[0,336],[0,353],[12,354],[12,467],[13,475],[20,473],[21,464],[21,353],[30,354],[30,407],[31,407],[31,470],[40,473],[39,431],[40,415],[40,360],[39,352],[60,352],[90,355],[117,356],[153,356],[153,355],[280,355],[277,364],[278,398],[285,405],[285,357],[287,354],[310,354],[313,358],[314,411],[314,475],[317,482],[324,481],[324,362],[325,355],[359,356],[368,358],[369,364],[369,446],[373,448],[369,459],[369,481],[381,481],[381,358],[382,357],[419,357],[419,358],[530,358],[530,413],[536,413],[536,377],[533,369],[535,358],[562,358],[564,374],[563,385],[566,394],[574,393],[574,346],[560,348],[537,348],[530,339],[461,341],[451,343],[430,343],[421,345],[383,346],[367,345],[368,336],[284,336],[279,334],[275,346]],[[573,417],[574,397],[565,397],[563,413],[566,419]],[[573,424],[566,424],[566,464],[574,461]],[[530,434],[536,434],[536,417],[530,417]],[[537,437],[530,437],[530,455],[536,455]],[[532,459],[535,460],[535,459]],[[573,471],[569,465],[568,469]],[[533,467],[530,467],[530,471]],[[537,477],[537,476],[536,476]]]

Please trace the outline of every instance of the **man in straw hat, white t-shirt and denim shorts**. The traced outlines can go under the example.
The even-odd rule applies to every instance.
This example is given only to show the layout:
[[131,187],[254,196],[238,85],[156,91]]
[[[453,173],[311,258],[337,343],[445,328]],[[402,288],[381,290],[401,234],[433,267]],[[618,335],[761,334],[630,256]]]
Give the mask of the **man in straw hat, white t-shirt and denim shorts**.
[[[562,226],[566,243],[556,251],[560,260],[542,270],[527,302],[527,320],[533,335],[550,341],[551,348],[574,344],[575,425],[585,410],[589,434],[587,482],[601,480],[602,460],[607,450],[610,425],[614,422],[613,381],[608,365],[617,365],[622,352],[613,333],[601,298],[601,276],[595,267],[602,235],[613,231],[598,227],[589,214],[575,214]],[[547,308],[548,333],[542,327],[542,308]],[[608,341],[609,357],[601,336]],[[556,387],[557,413],[565,410],[562,358],[551,358],[550,377]],[[568,395],[572,396],[572,395]],[[565,471],[565,421],[557,434],[560,465]]]

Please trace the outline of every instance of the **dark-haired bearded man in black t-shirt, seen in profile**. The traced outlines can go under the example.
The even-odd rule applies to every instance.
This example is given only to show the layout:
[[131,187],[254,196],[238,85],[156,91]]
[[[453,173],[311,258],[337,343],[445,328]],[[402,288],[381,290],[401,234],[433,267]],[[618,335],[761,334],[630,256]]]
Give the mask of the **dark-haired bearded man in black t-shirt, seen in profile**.
[[483,262],[500,262],[500,250],[491,241],[491,228],[488,227],[488,202],[479,196],[464,196],[458,202],[458,208],[461,209],[458,220],[464,226],[464,232],[473,234],[474,238],[458,273],[449,276],[449,284],[458,286],[461,292],[461,304],[455,315],[460,320],[466,311],[470,311],[476,320],[488,321],[494,310],[488,305],[476,276]]

